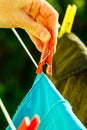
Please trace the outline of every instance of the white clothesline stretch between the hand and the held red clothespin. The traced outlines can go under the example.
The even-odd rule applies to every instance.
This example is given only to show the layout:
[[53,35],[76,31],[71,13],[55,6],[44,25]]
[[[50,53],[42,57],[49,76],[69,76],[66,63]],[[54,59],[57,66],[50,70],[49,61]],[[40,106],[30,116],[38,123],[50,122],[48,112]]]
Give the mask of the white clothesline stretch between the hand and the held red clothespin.
[[27,47],[25,46],[23,40],[21,39],[21,37],[19,36],[19,34],[17,33],[17,31],[12,28],[13,33],[15,34],[15,36],[17,37],[17,39],[19,40],[19,42],[21,43],[22,47],[24,48],[24,50],[26,51],[26,53],[28,54],[28,56],[30,57],[30,59],[32,60],[32,62],[34,63],[35,67],[37,68],[37,63],[34,60],[33,56],[31,55],[31,53],[29,52],[29,50],[27,49]]

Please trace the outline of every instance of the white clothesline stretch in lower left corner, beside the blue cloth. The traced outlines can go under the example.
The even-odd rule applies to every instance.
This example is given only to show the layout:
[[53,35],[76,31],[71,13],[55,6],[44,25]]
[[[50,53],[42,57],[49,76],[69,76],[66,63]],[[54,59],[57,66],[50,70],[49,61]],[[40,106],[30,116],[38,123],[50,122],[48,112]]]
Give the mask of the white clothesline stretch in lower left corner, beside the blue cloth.
[[1,107],[1,109],[2,109],[2,111],[3,111],[3,114],[4,114],[4,116],[5,116],[5,118],[6,118],[7,122],[8,122],[8,124],[10,125],[11,129],[12,129],[12,130],[17,130],[17,129],[15,128],[15,126],[14,126],[14,124],[13,124],[13,122],[12,122],[12,120],[11,120],[11,118],[10,118],[10,116],[9,116],[9,114],[8,114],[8,112],[7,112],[7,110],[6,110],[6,108],[5,108],[5,106],[4,106],[4,104],[3,104],[3,102],[2,102],[1,99],[0,99],[0,107]]

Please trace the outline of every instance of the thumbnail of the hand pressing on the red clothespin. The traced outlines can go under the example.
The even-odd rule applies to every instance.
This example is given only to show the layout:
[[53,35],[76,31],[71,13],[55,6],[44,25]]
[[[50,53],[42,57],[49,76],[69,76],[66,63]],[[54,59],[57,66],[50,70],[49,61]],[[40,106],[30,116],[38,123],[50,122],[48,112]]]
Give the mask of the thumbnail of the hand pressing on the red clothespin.
[[47,42],[47,41],[49,41],[50,40],[50,38],[51,38],[51,34],[48,32],[48,31],[42,31],[41,33],[40,33],[40,40],[42,41],[42,42]]

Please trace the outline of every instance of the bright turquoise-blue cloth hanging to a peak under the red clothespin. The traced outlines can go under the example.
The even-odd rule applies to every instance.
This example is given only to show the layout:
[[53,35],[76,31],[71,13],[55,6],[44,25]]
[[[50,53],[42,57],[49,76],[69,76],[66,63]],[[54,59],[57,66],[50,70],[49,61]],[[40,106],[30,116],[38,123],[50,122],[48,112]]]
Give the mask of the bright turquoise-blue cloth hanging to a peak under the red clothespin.
[[[56,90],[45,74],[36,76],[31,90],[18,107],[13,122],[18,128],[25,116],[38,114],[38,130],[86,130],[72,112],[70,104]],[[8,127],[6,130],[11,130]]]

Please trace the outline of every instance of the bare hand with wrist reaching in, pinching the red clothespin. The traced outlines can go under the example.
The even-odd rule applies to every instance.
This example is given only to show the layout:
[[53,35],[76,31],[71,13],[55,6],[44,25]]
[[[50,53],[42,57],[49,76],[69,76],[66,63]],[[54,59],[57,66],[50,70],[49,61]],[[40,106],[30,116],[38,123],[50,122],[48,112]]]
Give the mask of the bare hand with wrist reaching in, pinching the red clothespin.
[[0,28],[22,28],[39,51],[47,42],[55,49],[58,13],[45,0],[0,0]]

